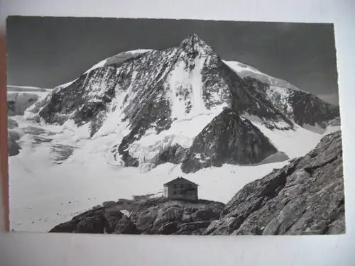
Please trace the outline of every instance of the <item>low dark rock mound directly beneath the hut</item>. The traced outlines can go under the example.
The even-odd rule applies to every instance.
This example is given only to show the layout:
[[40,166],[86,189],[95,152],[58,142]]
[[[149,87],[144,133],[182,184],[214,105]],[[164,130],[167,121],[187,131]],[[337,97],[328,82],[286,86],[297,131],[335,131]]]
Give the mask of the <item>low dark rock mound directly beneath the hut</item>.
[[[192,203],[163,197],[120,199],[75,216],[50,232],[202,235],[223,209],[222,203],[204,200]],[[122,214],[121,210],[129,211],[130,215]]]

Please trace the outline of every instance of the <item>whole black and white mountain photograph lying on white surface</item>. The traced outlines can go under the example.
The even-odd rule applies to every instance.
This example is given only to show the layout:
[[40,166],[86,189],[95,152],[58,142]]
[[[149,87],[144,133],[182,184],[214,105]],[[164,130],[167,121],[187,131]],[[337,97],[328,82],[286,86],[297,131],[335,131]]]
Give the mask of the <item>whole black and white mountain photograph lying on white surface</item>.
[[6,52],[11,231],[345,233],[332,23],[9,16]]

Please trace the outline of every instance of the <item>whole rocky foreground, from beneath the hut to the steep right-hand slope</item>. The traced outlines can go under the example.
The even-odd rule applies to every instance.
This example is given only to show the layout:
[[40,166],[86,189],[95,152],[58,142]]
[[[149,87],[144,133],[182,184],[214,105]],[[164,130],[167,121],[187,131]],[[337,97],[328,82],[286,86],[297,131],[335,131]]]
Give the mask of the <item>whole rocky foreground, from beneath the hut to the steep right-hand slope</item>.
[[304,157],[253,181],[226,206],[214,201],[121,199],[50,232],[302,235],[345,232],[342,135],[324,136]]

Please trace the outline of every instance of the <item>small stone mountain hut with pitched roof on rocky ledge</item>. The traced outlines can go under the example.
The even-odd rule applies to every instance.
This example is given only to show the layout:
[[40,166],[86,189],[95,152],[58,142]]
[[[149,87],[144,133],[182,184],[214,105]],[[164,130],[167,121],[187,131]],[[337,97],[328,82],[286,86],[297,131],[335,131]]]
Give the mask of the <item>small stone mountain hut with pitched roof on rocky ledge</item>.
[[198,184],[182,177],[175,178],[164,184],[164,196],[168,199],[186,199],[197,201]]

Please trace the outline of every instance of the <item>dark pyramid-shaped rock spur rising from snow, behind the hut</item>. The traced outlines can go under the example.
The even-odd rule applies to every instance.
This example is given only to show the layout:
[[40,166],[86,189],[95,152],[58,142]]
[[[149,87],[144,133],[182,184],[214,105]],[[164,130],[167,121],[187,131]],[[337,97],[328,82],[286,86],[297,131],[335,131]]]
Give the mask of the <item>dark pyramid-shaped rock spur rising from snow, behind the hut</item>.
[[224,109],[195,138],[189,157],[182,162],[183,172],[224,163],[249,165],[261,162],[278,150],[261,131],[239,113]]

